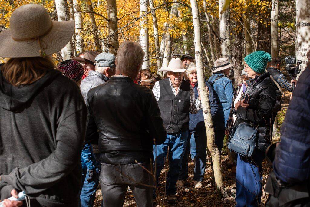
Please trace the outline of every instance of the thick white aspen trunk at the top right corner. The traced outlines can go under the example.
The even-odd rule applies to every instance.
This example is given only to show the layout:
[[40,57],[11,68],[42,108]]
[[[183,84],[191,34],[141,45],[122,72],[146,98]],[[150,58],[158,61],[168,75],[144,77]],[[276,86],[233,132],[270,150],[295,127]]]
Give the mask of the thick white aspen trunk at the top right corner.
[[[299,68],[307,67],[307,52],[310,48],[310,0],[296,0],[296,48],[295,55],[301,60]],[[300,75],[301,73],[299,73]],[[297,76],[297,78],[299,77]]]

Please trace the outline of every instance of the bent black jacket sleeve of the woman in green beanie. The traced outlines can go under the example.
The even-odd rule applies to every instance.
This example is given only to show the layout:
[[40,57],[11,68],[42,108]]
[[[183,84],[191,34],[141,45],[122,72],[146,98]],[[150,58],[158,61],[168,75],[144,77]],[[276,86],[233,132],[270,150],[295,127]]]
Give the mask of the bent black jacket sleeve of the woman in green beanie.
[[265,88],[259,94],[257,108],[251,109],[239,106],[236,115],[246,121],[263,122],[266,119],[265,117],[270,117],[276,99],[276,93],[269,88]]

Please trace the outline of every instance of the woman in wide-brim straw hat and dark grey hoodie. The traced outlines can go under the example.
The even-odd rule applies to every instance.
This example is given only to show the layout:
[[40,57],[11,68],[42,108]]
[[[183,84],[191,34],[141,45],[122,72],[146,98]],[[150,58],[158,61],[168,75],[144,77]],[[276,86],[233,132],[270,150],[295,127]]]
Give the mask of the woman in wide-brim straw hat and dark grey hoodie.
[[72,38],[74,21],[27,4],[10,27],[0,34],[0,57],[10,58],[0,65],[1,200],[25,191],[31,206],[78,206],[87,110],[50,56]]

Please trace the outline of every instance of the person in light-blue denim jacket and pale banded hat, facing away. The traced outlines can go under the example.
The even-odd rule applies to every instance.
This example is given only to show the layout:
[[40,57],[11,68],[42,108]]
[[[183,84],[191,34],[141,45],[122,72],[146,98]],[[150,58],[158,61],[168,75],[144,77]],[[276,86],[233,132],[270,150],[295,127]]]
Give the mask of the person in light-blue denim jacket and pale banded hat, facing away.
[[213,75],[208,82],[212,86],[219,109],[214,117],[213,126],[215,132],[215,144],[222,152],[225,137],[226,123],[229,117],[230,107],[232,105],[234,87],[232,81],[228,78],[230,69],[234,64],[230,64],[227,58],[219,58],[215,60],[212,68]]

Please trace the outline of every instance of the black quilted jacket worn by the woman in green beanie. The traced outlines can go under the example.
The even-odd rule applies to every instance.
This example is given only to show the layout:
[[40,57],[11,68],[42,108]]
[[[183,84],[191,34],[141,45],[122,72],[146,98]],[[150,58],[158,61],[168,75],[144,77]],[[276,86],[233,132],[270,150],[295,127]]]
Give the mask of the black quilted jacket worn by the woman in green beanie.
[[239,106],[234,114],[237,116],[234,129],[241,123],[246,122],[258,127],[258,150],[265,152],[271,143],[272,109],[276,104],[277,92],[269,73],[264,73],[250,80],[246,93],[249,94],[249,107]]

